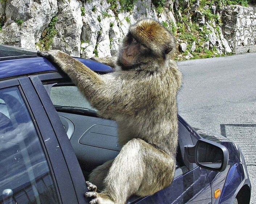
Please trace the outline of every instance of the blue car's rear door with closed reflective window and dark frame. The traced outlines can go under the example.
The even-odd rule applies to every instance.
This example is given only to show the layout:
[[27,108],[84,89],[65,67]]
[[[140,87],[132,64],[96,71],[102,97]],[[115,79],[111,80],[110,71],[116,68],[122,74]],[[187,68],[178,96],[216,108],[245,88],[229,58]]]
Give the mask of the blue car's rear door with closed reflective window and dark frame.
[[0,203],[78,203],[60,144],[28,77],[0,82]]

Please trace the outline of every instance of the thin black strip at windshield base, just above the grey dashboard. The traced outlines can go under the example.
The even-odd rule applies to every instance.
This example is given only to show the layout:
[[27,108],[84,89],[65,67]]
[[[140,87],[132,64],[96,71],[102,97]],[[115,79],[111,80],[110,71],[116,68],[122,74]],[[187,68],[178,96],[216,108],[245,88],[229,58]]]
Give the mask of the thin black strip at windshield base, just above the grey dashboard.
[[70,107],[70,106],[62,106],[62,105],[54,105],[54,108],[60,112],[70,112],[70,113],[78,113],[85,114],[89,116],[96,116],[97,112],[88,108],[81,107]]

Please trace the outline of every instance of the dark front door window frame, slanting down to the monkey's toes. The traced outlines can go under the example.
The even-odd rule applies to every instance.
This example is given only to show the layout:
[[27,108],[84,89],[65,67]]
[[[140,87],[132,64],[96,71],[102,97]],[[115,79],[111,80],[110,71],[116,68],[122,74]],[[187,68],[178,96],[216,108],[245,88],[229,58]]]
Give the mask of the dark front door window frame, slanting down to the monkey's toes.
[[32,83],[34,90],[37,93],[38,98],[41,101],[41,104],[44,107],[46,115],[49,118],[51,126],[53,127],[53,130],[54,130],[55,136],[59,142],[60,148],[62,150],[64,159],[66,162],[66,167],[69,171],[69,175],[73,182],[75,195],[77,196],[78,203],[85,204],[88,202],[84,197],[84,193],[88,190],[86,187],[82,170],[78,163],[74,149],[71,146],[70,140],[63,128],[63,125],[58,116],[58,113],[56,112],[51,102],[51,99],[42,83],[42,81],[45,81],[45,80],[61,79],[63,77],[66,78],[66,75],[63,73],[61,74],[58,72],[54,72],[54,73],[30,75],[29,79]]

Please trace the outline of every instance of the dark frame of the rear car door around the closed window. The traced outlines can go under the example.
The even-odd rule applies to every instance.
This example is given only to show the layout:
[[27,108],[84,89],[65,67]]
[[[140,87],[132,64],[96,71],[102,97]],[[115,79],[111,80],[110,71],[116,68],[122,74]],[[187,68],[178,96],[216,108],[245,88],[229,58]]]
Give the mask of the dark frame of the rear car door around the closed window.
[[65,158],[49,118],[27,76],[0,81],[0,87],[18,87],[37,131],[53,178],[59,203],[78,203]]

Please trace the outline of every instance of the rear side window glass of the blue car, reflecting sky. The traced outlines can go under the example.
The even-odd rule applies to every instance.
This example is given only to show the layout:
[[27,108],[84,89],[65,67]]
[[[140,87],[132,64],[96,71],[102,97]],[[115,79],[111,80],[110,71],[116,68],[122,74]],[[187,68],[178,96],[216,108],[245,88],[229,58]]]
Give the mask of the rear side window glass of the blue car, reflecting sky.
[[17,87],[0,90],[0,203],[59,203],[37,131]]

